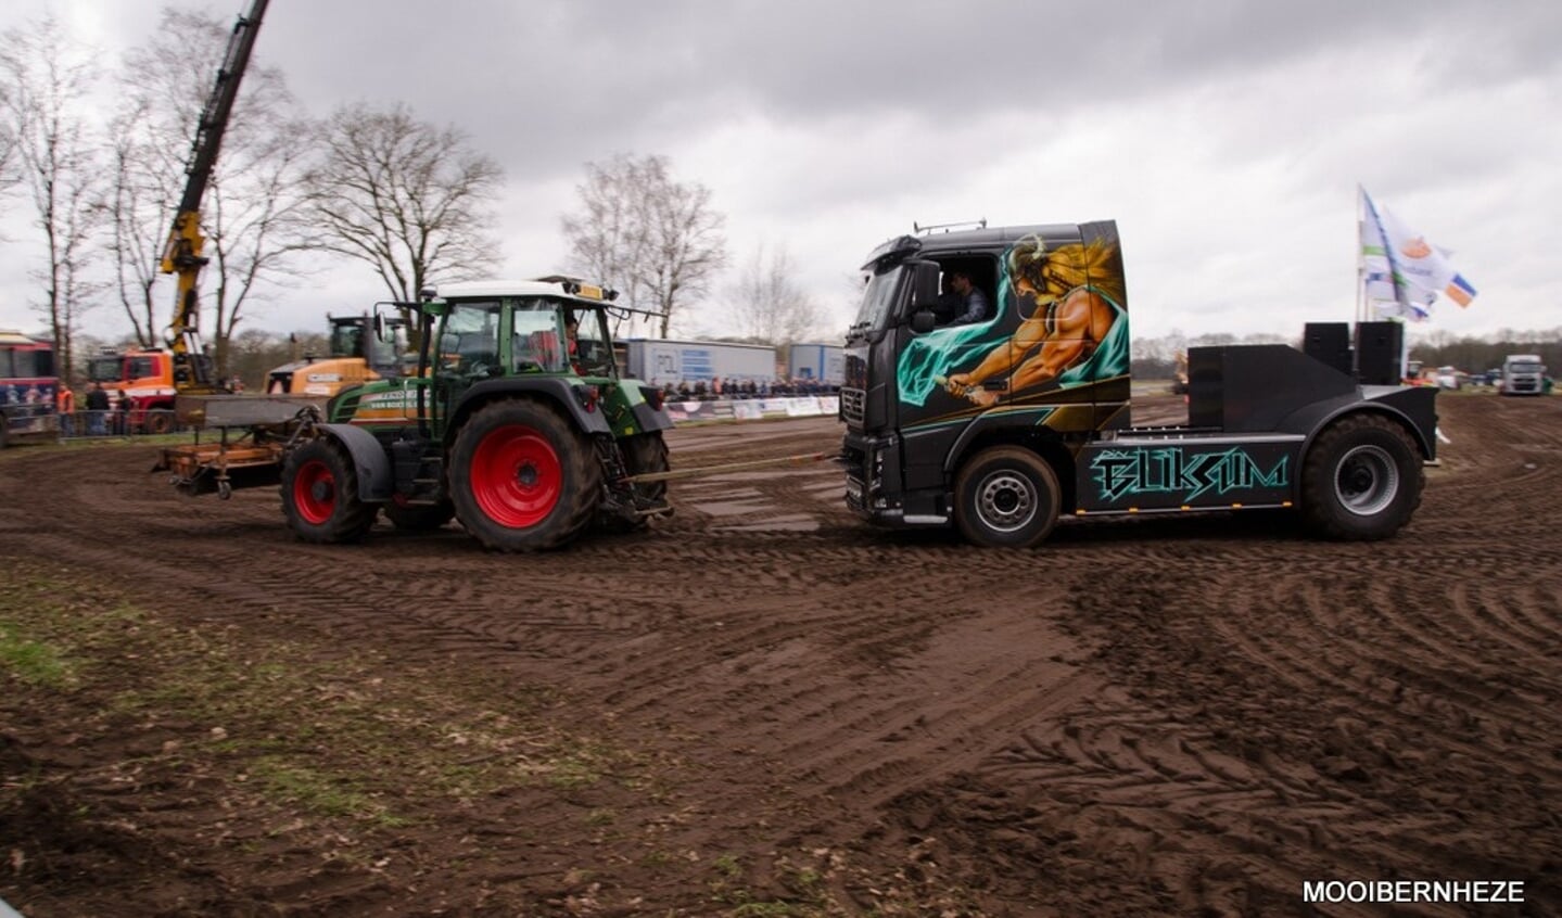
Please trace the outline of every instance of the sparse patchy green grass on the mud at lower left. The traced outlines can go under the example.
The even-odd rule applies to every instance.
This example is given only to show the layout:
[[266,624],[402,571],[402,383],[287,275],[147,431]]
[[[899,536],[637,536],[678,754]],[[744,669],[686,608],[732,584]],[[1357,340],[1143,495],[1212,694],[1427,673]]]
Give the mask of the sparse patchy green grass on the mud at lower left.
[[626,751],[553,726],[547,699],[372,648],[181,626],[91,575],[0,559],[0,721],[58,710],[120,751],[111,767],[216,774],[280,812],[395,827],[497,792],[647,781]]

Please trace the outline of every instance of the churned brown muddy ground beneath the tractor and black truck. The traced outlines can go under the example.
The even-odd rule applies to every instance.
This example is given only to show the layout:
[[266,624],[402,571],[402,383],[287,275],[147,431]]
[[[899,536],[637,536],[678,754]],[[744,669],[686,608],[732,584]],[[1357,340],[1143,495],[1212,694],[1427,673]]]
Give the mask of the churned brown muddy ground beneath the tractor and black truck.
[[[553,554],[384,523],[326,548],[273,490],[175,496],[145,447],[12,451],[12,589],[147,610],[125,646],[156,624],[306,678],[297,720],[264,726],[209,723],[219,701],[116,713],[117,679],[167,648],[67,690],[0,678],[0,898],[30,918],[1562,913],[1562,398],[1440,414],[1420,512],[1373,545],[1265,514],[984,551],[868,529],[811,465],[675,482],[653,532]],[[670,443],[694,467],[839,434]],[[408,698],[419,717],[387,713]],[[344,710],[389,742],[305,729]],[[242,729],[372,806],[259,787]],[[1526,901],[1303,904],[1331,879],[1523,881]]]

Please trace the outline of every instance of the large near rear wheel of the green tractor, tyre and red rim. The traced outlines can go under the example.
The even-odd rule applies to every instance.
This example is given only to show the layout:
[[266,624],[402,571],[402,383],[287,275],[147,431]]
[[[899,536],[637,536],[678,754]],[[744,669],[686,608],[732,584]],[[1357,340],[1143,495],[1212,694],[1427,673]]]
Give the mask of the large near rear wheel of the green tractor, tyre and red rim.
[[480,407],[450,453],[456,518],[492,551],[573,540],[601,503],[601,465],[586,436],[531,400]]

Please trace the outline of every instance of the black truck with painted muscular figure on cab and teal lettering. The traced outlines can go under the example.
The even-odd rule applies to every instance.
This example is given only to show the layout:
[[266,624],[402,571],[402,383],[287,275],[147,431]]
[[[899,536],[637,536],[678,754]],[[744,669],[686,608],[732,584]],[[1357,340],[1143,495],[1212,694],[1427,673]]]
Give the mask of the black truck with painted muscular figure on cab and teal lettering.
[[[1437,390],[1362,386],[1286,345],[1192,348],[1189,423],[1136,428],[1114,222],[901,236],[864,272],[842,459],[847,504],[876,525],[1029,546],[1062,514],[1284,507],[1365,540],[1420,504]],[[986,317],[940,322],[961,287]]]

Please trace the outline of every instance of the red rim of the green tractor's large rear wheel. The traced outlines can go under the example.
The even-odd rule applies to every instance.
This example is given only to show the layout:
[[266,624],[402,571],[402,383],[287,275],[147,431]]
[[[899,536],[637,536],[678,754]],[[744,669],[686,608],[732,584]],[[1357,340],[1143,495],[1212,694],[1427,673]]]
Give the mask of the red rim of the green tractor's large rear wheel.
[[536,526],[558,506],[562,490],[559,454],[528,426],[490,431],[472,453],[472,496],[500,526]]

